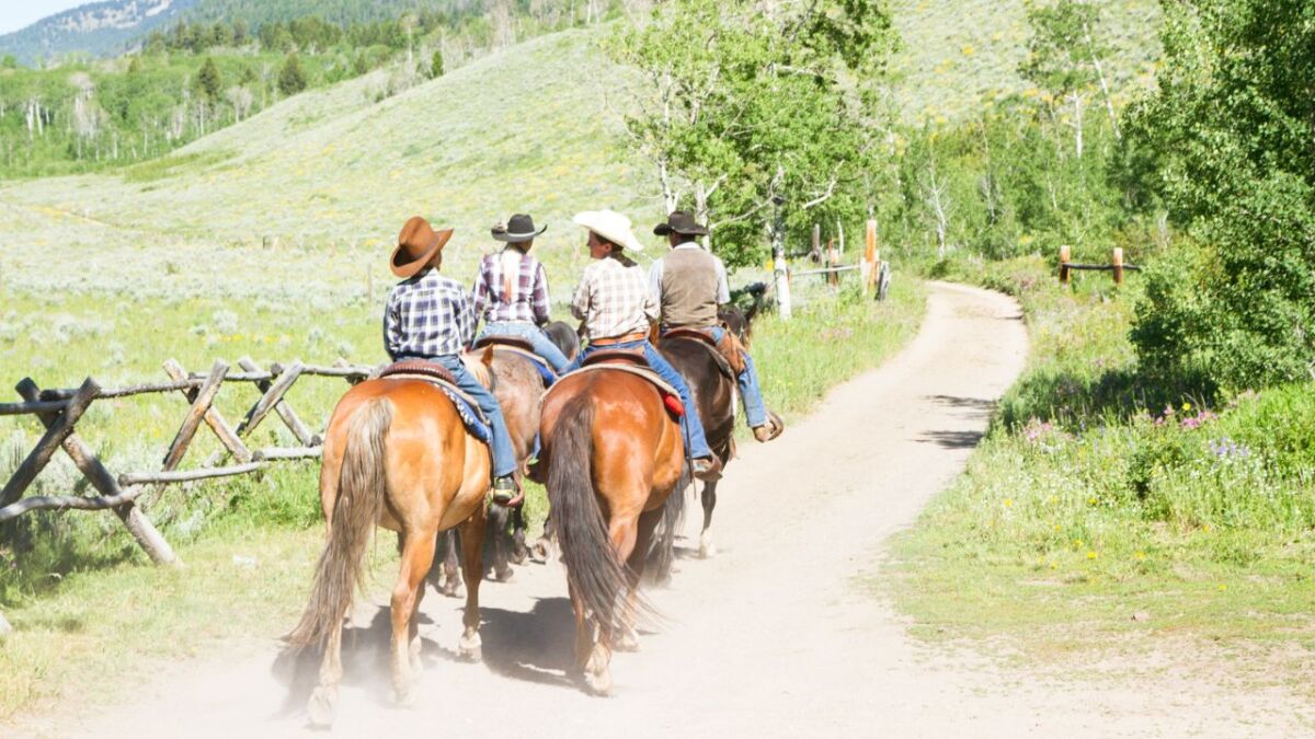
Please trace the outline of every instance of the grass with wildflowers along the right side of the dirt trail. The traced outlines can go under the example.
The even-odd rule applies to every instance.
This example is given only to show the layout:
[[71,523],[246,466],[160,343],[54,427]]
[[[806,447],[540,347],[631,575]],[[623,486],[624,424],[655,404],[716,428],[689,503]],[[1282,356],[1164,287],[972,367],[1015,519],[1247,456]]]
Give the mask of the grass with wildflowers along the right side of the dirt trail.
[[951,274],[1020,296],[1032,356],[872,586],[934,640],[1068,667],[1166,650],[1315,694],[1315,383],[1176,394],[1137,375],[1135,283],[1065,291],[1038,259]]

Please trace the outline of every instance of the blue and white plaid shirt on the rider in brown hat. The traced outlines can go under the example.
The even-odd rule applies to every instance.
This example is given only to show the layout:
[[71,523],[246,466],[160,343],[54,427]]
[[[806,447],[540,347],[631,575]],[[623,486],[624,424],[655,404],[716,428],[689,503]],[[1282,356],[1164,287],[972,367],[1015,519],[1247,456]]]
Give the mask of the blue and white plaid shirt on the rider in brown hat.
[[460,354],[475,338],[475,310],[460,283],[426,270],[397,283],[384,310],[388,356]]

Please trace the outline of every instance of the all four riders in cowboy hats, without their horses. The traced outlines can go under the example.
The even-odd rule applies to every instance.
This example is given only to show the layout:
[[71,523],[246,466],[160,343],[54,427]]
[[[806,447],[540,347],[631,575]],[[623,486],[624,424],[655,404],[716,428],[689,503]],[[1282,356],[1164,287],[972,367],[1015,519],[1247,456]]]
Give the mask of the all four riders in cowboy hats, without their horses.
[[[548,339],[547,271],[530,250],[546,227],[535,229],[530,216],[512,216],[492,229],[493,239],[506,246],[484,256],[473,292],[441,272],[443,247],[451,229],[435,230],[417,216],[406,221],[392,254],[392,272],[402,281],[393,287],[384,312],[384,346],[394,362],[423,359],[441,364],[454,384],[479,405],[490,427],[493,498],[506,502],[515,496],[517,468],[502,409],[493,393],[462,362],[462,352],[484,337],[515,337],[529,342],[552,370],[564,375],[601,350],[642,354],[648,367],[676,389],[684,406],[682,426],[693,475],[701,480],[721,476],[722,460],[709,448],[698,408],[681,375],[648,341],[652,325],[660,333],[702,331],[717,345],[727,341],[718,309],[730,302],[726,267],[696,239],[707,234],[684,210],[669,214],[654,227],[667,237],[671,251],[655,260],[648,274],[627,252],[643,251],[630,218],[613,210],[586,210],[573,221],[588,233],[589,256],[571,300],[571,313],[580,320],[580,335],[588,341],[573,360]],[[479,321],[484,330],[476,335]],[[753,360],[735,343],[739,362],[736,384],[753,438],[767,442],[780,435],[784,423],[767,410]]]

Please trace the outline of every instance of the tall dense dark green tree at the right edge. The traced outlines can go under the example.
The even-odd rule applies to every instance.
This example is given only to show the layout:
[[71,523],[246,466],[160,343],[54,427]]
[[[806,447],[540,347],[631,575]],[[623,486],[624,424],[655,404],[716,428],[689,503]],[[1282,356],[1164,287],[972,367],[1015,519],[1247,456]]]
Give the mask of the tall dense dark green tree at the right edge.
[[1315,373],[1315,7],[1169,1],[1134,114],[1159,189],[1201,245],[1148,280],[1149,368],[1226,388]]

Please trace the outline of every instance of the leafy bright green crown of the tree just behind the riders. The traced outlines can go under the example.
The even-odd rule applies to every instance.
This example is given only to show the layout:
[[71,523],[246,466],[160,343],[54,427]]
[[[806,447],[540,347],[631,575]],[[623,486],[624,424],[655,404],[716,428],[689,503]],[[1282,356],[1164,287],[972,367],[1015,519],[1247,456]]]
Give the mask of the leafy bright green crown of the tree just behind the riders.
[[713,249],[740,266],[761,260],[773,200],[794,238],[864,216],[877,128],[863,110],[893,43],[872,3],[768,16],[752,3],[677,0],[609,51],[644,78],[626,125],[667,206],[706,218]]

